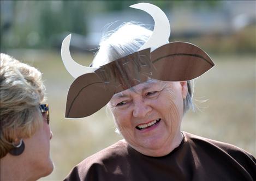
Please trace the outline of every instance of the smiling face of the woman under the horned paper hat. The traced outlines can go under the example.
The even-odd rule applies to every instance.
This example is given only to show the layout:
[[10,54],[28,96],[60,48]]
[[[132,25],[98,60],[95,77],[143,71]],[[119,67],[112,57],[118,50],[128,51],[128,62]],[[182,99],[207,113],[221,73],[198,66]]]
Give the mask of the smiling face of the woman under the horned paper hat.
[[186,96],[187,82],[149,80],[116,93],[109,107],[130,146],[142,154],[160,157],[182,140],[180,126]]

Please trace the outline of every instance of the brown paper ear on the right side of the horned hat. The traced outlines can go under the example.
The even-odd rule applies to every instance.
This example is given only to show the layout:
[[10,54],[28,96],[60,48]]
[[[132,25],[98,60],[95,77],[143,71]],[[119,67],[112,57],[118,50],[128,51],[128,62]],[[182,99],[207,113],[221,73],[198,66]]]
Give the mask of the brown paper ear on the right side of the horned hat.
[[155,49],[151,61],[156,68],[153,78],[163,81],[191,80],[214,66],[209,55],[187,42],[171,42]]

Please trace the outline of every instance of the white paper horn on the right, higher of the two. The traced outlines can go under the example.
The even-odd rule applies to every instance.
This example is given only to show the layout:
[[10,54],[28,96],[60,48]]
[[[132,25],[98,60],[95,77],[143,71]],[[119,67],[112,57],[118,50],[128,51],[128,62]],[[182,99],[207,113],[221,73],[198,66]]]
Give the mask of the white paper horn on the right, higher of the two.
[[154,30],[151,37],[139,49],[151,48],[151,52],[166,43],[169,43],[171,33],[170,23],[164,12],[156,5],[149,3],[138,3],[130,6],[131,8],[146,11],[154,19]]

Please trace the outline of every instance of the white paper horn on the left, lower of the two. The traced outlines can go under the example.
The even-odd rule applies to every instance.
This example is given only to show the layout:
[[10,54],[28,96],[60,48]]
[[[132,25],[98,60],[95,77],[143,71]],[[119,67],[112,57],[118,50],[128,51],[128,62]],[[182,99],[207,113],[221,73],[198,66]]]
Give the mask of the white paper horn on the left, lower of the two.
[[62,45],[61,45],[61,58],[62,58],[63,64],[66,67],[67,71],[74,78],[77,78],[77,77],[81,76],[82,74],[92,73],[95,70],[97,70],[97,68],[82,66],[82,65],[76,63],[72,59],[70,52],[69,52],[70,39],[71,39],[71,34],[69,34],[62,41]]

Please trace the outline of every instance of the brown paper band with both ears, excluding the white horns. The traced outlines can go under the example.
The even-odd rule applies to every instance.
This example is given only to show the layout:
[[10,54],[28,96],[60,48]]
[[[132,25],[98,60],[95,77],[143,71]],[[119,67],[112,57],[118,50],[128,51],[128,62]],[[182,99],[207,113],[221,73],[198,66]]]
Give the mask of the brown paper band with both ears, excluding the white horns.
[[115,93],[148,78],[191,80],[213,66],[203,50],[186,42],[171,42],[151,53],[150,48],[135,52],[76,78],[68,92],[66,117],[90,116],[104,107]]

